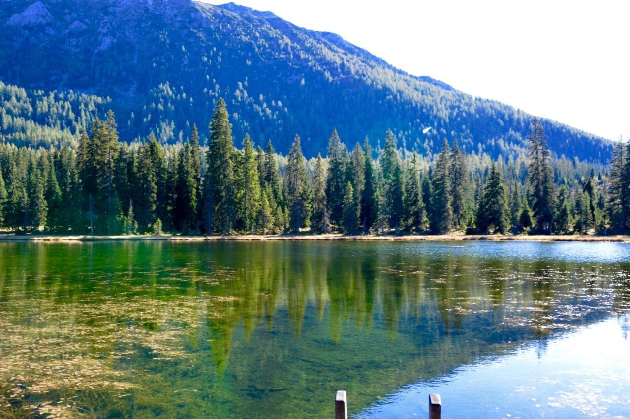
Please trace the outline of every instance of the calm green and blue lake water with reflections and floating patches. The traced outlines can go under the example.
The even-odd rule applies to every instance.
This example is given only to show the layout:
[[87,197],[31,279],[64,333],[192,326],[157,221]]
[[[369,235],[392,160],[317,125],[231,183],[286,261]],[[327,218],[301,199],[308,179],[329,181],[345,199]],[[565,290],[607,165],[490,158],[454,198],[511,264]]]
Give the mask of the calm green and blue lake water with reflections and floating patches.
[[0,416],[630,416],[624,243],[0,243]]

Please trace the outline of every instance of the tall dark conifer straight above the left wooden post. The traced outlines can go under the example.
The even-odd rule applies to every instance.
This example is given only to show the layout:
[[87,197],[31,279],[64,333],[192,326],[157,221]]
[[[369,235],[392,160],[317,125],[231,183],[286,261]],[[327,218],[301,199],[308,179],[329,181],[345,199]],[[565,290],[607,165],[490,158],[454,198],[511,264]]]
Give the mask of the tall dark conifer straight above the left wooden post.
[[328,140],[328,177],[326,179],[326,202],[330,221],[340,225],[343,216],[343,193],[346,186],[348,149],[341,143],[337,130]]

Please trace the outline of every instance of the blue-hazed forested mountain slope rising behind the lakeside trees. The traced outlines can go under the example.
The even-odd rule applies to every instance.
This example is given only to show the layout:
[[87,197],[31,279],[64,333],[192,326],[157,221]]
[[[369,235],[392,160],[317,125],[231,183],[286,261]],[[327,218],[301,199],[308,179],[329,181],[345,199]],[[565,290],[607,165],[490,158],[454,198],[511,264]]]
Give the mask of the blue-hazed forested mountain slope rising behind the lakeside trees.
[[[298,133],[307,157],[324,154],[335,127],[348,145],[366,135],[377,145],[391,129],[422,154],[456,138],[491,157],[522,152],[529,131],[523,111],[407,74],[270,12],[190,0],[31,1],[0,1],[6,140],[63,142],[112,108],[122,138],[153,130],[176,142],[193,123],[207,134],[219,97],[237,143],[248,132],[287,152]],[[415,41],[401,42],[413,53]],[[551,120],[544,127],[558,156],[610,157],[609,140]]]

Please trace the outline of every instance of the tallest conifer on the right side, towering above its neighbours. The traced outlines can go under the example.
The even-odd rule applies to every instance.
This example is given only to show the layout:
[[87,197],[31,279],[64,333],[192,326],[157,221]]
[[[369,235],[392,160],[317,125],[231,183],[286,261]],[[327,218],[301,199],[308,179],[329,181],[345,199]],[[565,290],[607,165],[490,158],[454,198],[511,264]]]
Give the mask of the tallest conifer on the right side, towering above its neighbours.
[[529,158],[530,184],[534,204],[532,211],[536,219],[536,229],[543,233],[551,232],[553,216],[553,172],[549,165],[550,154],[545,140],[542,123],[532,121],[531,133],[527,136],[527,157]]

